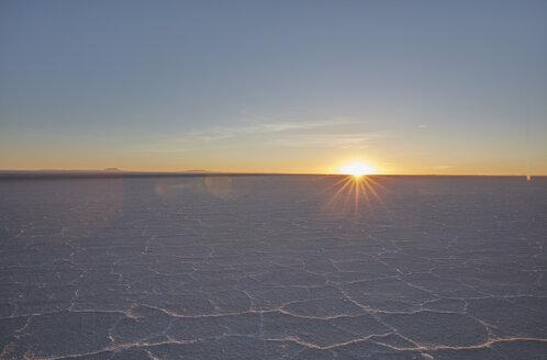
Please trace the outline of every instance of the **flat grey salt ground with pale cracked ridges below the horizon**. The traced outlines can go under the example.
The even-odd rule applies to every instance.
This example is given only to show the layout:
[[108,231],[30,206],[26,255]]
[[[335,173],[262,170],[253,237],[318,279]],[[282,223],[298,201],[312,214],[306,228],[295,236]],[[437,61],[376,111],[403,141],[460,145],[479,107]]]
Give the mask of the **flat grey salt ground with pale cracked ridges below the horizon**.
[[0,359],[547,358],[547,179],[338,180],[1,181]]

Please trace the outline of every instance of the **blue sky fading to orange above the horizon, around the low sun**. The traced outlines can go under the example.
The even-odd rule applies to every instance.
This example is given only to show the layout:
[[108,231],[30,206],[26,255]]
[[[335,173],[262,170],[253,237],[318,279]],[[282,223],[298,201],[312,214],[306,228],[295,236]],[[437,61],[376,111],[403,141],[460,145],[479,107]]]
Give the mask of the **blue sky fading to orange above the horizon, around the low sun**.
[[547,175],[547,1],[0,2],[0,169]]

